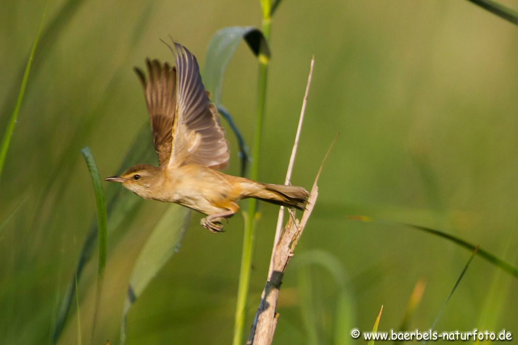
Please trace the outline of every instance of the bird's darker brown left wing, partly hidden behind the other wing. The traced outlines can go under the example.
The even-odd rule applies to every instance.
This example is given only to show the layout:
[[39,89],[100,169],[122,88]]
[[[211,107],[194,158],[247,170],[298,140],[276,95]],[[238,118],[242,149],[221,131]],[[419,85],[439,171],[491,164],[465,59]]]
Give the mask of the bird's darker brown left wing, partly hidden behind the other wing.
[[146,74],[135,67],[135,72],[144,89],[148,104],[149,121],[153,132],[153,144],[159,156],[160,166],[165,166],[171,156],[171,128],[176,109],[176,67],[158,60],[146,59],[149,80]]

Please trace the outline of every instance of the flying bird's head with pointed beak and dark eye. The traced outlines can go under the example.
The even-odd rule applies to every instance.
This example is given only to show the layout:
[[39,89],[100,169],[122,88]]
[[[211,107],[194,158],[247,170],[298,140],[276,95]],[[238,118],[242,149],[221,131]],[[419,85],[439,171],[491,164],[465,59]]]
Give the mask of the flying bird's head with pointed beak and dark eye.
[[119,176],[106,177],[105,181],[119,182],[139,196],[151,199],[154,194],[153,187],[158,186],[160,183],[160,172],[160,168],[150,166],[149,164],[138,164],[127,169]]

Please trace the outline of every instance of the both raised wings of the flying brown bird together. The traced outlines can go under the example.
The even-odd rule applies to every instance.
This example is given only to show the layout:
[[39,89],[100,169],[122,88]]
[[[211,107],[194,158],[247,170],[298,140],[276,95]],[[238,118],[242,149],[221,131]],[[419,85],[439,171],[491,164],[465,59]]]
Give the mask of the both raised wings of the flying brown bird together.
[[197,163],[214,169],[228,163],[228,143],[219,114],[202,84],[196,57],[173,42],[176,66],[146,61],[149,81],[138,68],[148,104],[160,166]]

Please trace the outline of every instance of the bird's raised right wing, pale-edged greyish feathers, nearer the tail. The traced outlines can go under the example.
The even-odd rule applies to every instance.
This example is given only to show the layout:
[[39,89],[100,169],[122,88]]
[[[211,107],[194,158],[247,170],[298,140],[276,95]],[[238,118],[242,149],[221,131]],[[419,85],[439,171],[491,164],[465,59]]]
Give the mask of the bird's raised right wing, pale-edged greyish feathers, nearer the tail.
[[210,103],[196,57],[179,43],[176,58],[176,112],[172,124],[169,168],[197,163],[223,168],[228,163],[228,142],[219,123],[218,110]]

